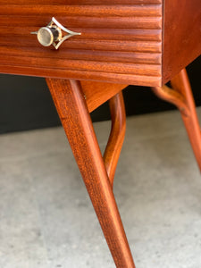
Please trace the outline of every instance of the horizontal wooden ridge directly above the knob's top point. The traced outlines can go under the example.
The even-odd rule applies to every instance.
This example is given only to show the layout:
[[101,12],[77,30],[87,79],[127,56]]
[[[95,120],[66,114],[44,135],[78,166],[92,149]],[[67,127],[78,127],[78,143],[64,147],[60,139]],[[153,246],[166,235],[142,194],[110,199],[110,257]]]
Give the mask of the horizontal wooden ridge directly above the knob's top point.
[[[147,5],[147,8],[144,5],[139,4],[108,4],[108,5],[81,5],[81,4],[71,4],[71,5],[41,5],[39,8],[36,4],[24,4],[18,5],[13,4],[13,8],[11,10],[10,4],[4,4],[1,6],[1,13],[4,15],[31,15],[36,16],[36,14],[49,15],[52,16],[53,13],[56,13],[57,16],[66,16],[71,20],[71,16],[77,16],[81,14],[81,16],[88,17],[134,17],[134,16],[162,16],[162,9],[160,4],[150,4]],[[79,20],[79,18],[78,18]]]

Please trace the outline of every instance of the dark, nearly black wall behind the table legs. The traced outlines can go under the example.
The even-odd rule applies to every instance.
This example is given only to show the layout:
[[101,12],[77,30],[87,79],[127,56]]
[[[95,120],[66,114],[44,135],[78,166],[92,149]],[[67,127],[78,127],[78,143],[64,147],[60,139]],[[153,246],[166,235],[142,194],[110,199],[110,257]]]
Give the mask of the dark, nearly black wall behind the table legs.
[[[188,74],[196,103],[201,105],[201,57],[188,66]],[[0,85],[0,133],[60,124],[44,79],[1,74]],[[155,97],[150,88],[130,86],[123,94],[128,115],[174,109]],[[93,121],[109,119],[108,105],[91,115]]]

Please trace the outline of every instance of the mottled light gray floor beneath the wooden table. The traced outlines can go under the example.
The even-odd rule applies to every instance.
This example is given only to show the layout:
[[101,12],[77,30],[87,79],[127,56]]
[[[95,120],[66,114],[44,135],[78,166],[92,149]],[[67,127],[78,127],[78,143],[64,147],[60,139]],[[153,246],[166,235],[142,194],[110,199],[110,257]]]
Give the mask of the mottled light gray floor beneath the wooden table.
[[[110,123],[95,128],[103,149]],[[114,267],[63,129],[0,148],[0,268]],[[178,112],[128,119],[114,193],[137,268],[201,267],[201,176]]]

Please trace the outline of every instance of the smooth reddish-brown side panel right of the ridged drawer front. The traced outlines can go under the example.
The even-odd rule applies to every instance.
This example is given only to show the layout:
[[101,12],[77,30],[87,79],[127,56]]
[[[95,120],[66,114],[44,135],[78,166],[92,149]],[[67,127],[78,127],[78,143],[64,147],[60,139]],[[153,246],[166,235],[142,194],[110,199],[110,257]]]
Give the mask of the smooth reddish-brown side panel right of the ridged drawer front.
[[201,54],[201,1],[164,1],[163,84]]

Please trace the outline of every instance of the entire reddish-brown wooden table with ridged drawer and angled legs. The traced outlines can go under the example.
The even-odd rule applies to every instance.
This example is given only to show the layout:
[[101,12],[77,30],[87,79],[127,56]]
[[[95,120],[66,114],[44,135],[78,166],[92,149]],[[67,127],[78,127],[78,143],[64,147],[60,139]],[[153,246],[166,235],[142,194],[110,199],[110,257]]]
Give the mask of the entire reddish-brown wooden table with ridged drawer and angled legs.
[[[135,267],[113,197],[126,121],[121,90],[148,86],[177,105],[201,169],[184,69],[201,53],[201,1],[1,0],[0,27],[0,72],[46,78],[113,260]],[[89,113],[107,100],[112,130],[102,156]]]

